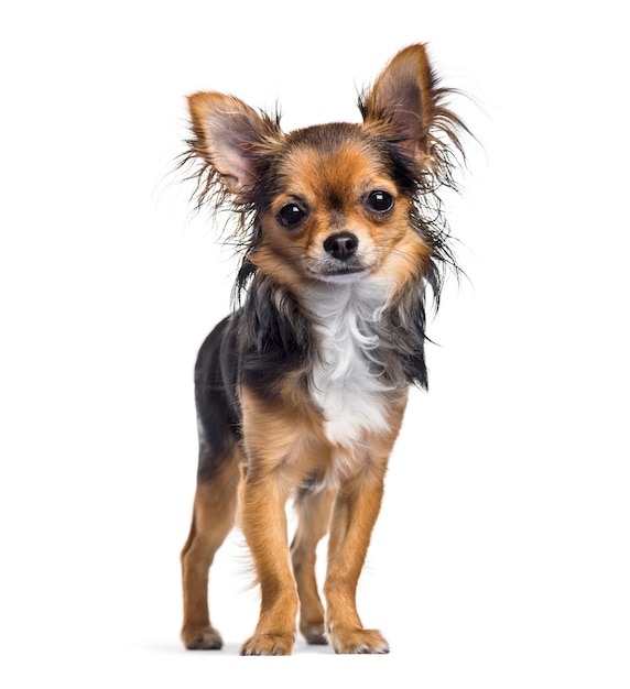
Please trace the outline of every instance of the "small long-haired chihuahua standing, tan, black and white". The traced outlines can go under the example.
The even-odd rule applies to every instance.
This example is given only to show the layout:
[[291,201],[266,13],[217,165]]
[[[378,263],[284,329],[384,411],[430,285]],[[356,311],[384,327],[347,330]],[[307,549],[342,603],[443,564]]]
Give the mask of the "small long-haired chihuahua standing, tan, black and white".
[[[464,155],[424,44],[359,96],[362,123],[284,133],[236,97],[188,97],[199,207],[227,206],[241,258],[235,307],[195,368],[199,461],[182,551],[186,648],[220,648],[207,592],[238,524],[260,586],[241,655],[291,654],[300,632],[336,653],[389,652],[357,582],[410,386],[426,387],[427,295],[458,270],[437,196]],[[182,163],[183,164],[183,163]],[[286,503],[297,512],[289,545]],[[328,534],[323,587],[315,550]]]

